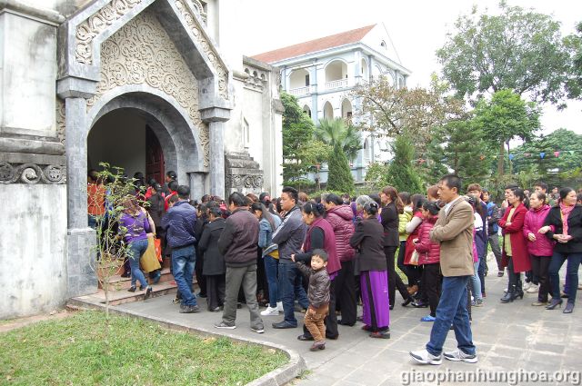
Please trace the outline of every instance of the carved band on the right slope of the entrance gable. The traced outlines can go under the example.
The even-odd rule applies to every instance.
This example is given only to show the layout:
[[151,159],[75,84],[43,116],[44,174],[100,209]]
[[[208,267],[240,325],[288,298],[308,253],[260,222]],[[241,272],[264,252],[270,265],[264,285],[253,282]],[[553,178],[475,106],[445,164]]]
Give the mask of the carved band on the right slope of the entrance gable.
[[[200,7],[202,8],[202,5],[200,5]],[[192,35],[194,35],[196,43],[202,47],[203,52],[215,68],[216,74],[218,75],[218,94],[227,100],[228,72],[226,71],[226,66],[219,59],[214,47],[210,42],[208,42],[206,36],[203,34],[203,28],[196,18],[196,11],[194,13],[191,11],[190,6],[186,5],[186,0],[176,0],[176,8],[186,19],[186,25],[188,25]]]

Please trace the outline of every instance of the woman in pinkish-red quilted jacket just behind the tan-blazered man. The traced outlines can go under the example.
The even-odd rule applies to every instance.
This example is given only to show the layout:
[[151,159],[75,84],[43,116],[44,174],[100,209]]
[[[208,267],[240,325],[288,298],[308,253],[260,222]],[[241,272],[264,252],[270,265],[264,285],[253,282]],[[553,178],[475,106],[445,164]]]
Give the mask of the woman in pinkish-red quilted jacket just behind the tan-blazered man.
[[423,223],[418,231],[418,238],[413,240],[418,252],[418,265],[423,266],[422,285],[428,297],[430,314],[420,319],[420,322],[435,322],[437,319],[437,305],[440,300],[440,287],[443,275],[440,272],[440,243],[430,241],[430,231],[437,223],[438,203],[425,201],[422,204]]

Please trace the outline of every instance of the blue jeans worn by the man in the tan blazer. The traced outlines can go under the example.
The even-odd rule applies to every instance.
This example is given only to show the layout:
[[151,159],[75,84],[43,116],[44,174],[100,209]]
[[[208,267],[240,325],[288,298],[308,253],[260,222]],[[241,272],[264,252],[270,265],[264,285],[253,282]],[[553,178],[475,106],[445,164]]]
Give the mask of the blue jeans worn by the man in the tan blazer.
[[442,292],[437,307],[437,320],[430,331],[430,341],[426,343],[426,351],[432,355],[443,352],[443,344],[447,333],[454,327],[457,338],[457,348],[466,354],[475,354],[473,334],[467,312],[467,283],[471,276],[450,276],[443,278]]

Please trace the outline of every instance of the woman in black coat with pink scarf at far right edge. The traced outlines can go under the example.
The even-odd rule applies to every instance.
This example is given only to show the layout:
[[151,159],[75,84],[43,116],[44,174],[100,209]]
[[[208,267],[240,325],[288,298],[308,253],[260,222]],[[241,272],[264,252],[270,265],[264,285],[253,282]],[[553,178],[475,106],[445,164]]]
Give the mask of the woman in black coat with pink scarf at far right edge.
[[552,302],[546,308],[554,310],[562,304],[559,271],[567,260],[568,297],[564,313],[572,313],[578,289],[578,267],[582,262],[582,206],[577,204],[574,189],[560,190],[557,205],[549,210],[538,233],[546,233],[550,240],[557,242],[548,268]]

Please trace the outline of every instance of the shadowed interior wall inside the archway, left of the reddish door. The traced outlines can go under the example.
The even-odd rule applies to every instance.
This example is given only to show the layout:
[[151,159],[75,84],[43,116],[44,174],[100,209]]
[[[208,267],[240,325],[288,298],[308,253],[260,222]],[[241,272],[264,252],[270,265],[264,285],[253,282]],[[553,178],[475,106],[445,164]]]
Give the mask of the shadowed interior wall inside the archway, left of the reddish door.
[[89,169],[100,162],[125,169],[129,177],[146,174],[146,121],[136,114],[116,110],[105,114],[87,138]]

